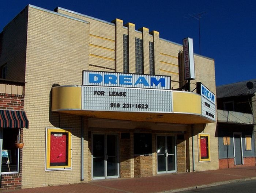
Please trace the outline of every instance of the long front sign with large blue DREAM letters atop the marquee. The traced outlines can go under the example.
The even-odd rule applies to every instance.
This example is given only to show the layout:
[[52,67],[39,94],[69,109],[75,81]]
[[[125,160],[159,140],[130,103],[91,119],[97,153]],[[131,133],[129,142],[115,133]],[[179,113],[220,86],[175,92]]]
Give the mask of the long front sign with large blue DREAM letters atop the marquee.
[[83,85],[171,89],[170,76],[83,71]]

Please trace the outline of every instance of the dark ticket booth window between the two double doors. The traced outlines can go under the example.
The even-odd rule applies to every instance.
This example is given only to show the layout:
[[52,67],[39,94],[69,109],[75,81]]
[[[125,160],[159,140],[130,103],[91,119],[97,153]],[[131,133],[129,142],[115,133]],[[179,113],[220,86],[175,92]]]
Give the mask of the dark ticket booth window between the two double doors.
[[134,134],[134,154],[152,154],[152,134]]

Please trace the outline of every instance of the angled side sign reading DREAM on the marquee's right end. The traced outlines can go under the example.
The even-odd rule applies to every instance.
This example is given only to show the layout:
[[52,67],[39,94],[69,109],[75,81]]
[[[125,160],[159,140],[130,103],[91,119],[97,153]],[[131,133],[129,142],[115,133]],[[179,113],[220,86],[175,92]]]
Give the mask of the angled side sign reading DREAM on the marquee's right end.
[[215,94],[204,86],[202,82],[196,82],[196,93],[201,95],[202,116],[216,121]]

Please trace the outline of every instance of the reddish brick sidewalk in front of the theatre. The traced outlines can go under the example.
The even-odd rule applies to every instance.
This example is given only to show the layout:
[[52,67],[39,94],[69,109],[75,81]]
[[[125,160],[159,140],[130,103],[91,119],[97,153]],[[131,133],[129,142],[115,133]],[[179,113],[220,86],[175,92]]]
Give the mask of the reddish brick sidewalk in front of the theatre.
[[146,178],[97,180],[89,183],[27,188],[8,193],[167,193],[256,179],[256,167],[163,174]]

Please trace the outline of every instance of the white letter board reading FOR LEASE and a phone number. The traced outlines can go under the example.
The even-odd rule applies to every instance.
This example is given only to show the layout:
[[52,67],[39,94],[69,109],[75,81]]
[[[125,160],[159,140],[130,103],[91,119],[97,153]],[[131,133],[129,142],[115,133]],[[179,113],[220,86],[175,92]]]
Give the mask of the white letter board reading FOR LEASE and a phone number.
[[170,113],[172,91],[82,86],[82,110]]

